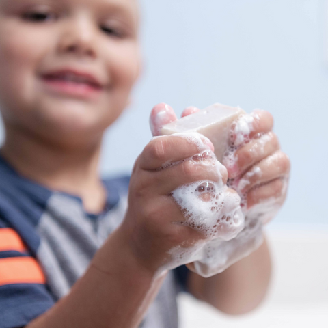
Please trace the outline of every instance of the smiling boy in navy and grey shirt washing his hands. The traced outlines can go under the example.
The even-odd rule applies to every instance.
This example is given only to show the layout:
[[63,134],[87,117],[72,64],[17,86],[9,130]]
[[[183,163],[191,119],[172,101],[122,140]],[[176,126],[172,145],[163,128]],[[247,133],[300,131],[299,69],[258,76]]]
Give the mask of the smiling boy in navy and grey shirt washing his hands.
[[[139,74],[137,25],[134,0],[0,0],[1,328],[177,327],[173,271],[158,270],[169,249],[204,236],[172,224],[184,218],[169,193],[215,174],[189,161],[157,170],[197,153],[163,137],[137,159],[128,193],[128,178],[98,176],[102,134]],[[262,167],[245,190],[250,208],[285,197],[289,161],[272,126],[261,112],[251,137],[269,136],[264,153],[254,138],[228,168],[238,178]],[[269,251],[208,279],[176,276],[219,310],[248,312],[267,290]]]

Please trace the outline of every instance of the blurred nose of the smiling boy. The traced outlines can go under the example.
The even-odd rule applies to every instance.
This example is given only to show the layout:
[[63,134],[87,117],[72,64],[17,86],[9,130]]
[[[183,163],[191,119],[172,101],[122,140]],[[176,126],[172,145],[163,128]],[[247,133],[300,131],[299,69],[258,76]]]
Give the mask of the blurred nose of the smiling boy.
[[78,57],[97,57],[96,28],[83,15],[67,18],[59,40],[59,52]]

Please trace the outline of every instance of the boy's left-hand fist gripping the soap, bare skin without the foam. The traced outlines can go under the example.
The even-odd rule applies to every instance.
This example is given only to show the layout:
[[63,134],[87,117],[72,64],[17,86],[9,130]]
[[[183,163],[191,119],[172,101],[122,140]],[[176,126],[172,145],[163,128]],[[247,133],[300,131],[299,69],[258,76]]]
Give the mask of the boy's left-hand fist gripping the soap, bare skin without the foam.
[[[200,137],[202,147],[210,152],[212,143]],[[121,228],[135,257],[147,269],[156,271],[172,260],[169,256],[172,248],[190,247],[206,238],[199,230],[181,225],[184,215],[170,195],[184,184],[201,180],[221,180],[226,184],[228,174],[224,167],[217,172],[212,165],[191,160],[199,152],[197,144],[183,137],[157,137],[148,143],[135,163],[128,210]]]

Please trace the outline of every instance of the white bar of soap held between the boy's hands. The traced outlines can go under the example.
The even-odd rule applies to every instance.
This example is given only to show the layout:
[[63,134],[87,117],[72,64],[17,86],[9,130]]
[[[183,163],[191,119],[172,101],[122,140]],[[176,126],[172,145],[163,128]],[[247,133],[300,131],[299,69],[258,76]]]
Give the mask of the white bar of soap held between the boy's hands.
[[215,156],[222,161],[229,142],[230,126],[245,111],[240,107],[214,104],[201,111],[166,124],[161,129],[162,135],[173,133],[198,132],[208,137],[215,148]]

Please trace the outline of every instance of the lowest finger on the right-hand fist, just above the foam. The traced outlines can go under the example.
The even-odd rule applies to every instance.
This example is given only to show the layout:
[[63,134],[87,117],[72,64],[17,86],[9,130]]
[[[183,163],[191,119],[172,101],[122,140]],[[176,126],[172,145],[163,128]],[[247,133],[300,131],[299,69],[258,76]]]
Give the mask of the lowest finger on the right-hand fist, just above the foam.
[[267,184],[262,184],[251,189],[247,194],[247,208],[251,208],[257,204],[266,204],[266,202],[274,202],[282,204],[286,197],[287,179],[277,178]]

